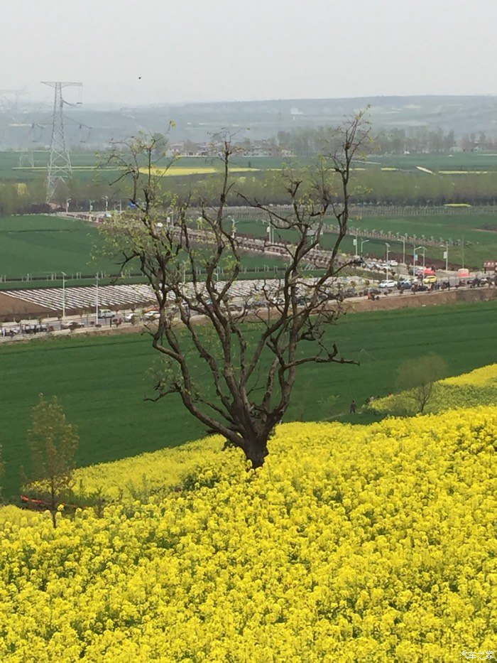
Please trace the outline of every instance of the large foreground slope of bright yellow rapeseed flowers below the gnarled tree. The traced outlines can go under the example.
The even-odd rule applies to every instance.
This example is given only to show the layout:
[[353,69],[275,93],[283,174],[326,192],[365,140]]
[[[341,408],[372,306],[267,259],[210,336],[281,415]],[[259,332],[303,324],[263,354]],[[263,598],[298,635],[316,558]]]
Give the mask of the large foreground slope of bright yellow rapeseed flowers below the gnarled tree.
[[209,438],[129,465],[137,484],[152,458],[164,483],[184,481],[148,503],[80,510],[57,529],[11,510],[0,660],[413,663],[491,651],[496,442],[491,406],[285,424],[256,472]]

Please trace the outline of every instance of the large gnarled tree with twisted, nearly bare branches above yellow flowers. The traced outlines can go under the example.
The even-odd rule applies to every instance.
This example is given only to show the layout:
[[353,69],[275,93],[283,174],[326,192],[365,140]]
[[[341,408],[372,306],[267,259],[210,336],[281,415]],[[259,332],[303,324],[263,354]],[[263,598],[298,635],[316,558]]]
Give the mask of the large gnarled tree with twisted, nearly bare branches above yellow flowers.
[[[129,141],[127,158],[119,146],[116,161],[124,166],[121,178],[131,178],[133,211],[115,216],[104,232],[122,253],[123,266],[138,261],[157,299],[160,318],[150,332],[164,361],[153,399],[179,394],[185,408],[208,431],[241,448],[253,468],[268,454],[298,367],[356,363],[339,354],[326,332],[340,313],[337,277],[348,264],[339,247],[349,220],[352,163],[368,141],[361,112],[330,132],[328,153],[315,168],[285,171],[281,182],[288,213],[236,191],[230,161],[237,149],[228,134],[214,136],[219,172],[209,192],[184,200],[168,196],[155,177],[153,140]],[[236,237],[226,208],[234,194],[263,210],[270,227],[264,248],[276,243],[285,258],[280,279],[252,282],[242,298],[236,298],[236,290],[244,240]],[[320,252],[330,217],[338,226],[336,241]],[[317,262],[320,276],[308,278],[305,266]],[[206,375],[210,389],[203,386]]]

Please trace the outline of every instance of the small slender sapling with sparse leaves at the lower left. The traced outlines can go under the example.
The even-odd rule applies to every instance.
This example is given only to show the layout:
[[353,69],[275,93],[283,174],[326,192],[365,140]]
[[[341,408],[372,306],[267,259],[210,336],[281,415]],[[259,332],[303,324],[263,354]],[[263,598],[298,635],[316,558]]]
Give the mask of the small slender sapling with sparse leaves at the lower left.
[[33,407],[33,422],[28,431],[31,449],[30,488],[46,500],[57,527],[57,511],[67,499],[72,486],[75,452],[79,438],[72,424],[67,424],[57,398],[40,401]]

